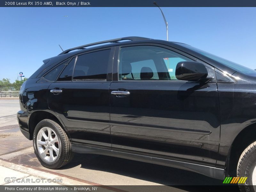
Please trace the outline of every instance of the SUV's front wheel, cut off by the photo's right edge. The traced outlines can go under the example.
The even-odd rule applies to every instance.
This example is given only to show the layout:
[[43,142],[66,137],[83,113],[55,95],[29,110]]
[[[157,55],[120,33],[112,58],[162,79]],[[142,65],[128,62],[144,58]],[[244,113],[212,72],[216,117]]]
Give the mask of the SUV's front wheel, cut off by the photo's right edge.
[[244,184],[238,184],[241,192],[256,192],[256,141],[249,145],[240,156],[237,177],[247,177]]

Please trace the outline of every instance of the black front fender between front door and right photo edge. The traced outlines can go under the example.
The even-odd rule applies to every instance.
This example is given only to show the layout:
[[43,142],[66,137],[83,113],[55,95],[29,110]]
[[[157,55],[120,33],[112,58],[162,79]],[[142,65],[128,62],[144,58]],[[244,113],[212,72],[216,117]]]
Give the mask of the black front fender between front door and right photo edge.
[[[225,168],[228,153],[236,136],[249,126],[256,127],[256,81],[253,77],[248,78],[238,73],[233,76],[239,77],[237,83],[218,84],[221,136],[220,156],[216,167],[219,168]],[[246,142],[246,138],[239,142]]]

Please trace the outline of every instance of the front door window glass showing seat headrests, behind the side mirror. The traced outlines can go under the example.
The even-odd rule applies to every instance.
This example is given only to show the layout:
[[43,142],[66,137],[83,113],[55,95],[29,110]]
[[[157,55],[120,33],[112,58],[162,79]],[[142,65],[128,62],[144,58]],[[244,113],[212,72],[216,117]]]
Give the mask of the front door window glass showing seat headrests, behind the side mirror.
[[156,46],[123,47],[119,55],[119,80],[177,80],[180,61],[191,59]]

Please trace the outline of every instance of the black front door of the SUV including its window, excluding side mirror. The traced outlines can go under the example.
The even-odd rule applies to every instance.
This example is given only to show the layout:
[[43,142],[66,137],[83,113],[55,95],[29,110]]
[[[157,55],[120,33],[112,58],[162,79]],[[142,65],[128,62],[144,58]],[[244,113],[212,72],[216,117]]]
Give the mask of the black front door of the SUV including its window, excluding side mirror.
[[[215,78],[204,84],[177,80],[177,63],[196,59],[169,47],[116,49],[109,93],[113,150],[215,166],[220,139]],[[214,68],[205,66],[215,76]]]

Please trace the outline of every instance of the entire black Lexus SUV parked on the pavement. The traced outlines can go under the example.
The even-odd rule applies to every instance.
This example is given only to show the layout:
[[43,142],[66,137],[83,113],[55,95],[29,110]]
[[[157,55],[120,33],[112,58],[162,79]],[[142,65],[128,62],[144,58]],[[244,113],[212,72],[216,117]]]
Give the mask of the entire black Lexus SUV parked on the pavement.
[[247,177],[241,189],[254,190],[255,70],[144,37],[87,44],[43,62],[23,83],[17,114],[43,166],[93,153]]

